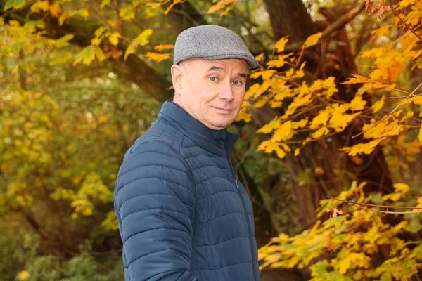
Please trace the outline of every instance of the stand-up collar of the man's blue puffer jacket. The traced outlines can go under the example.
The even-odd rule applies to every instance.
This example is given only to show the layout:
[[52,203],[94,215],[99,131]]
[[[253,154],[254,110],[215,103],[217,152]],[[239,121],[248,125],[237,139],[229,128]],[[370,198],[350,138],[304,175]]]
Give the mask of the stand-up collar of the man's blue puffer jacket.
[[174,102],[162,105],[158,120],[171,124],[201,148],[219,156],[228,156],[238,138],[238,133],[208,128]]

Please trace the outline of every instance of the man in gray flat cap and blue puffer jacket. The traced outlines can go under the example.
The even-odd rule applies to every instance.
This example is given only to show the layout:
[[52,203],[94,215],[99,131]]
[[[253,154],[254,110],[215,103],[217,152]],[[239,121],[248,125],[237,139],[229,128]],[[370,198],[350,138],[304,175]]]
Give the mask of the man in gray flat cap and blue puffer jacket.
[[174,46],[174,102],[124,156],[115,211],[127,281],[260,280],[252,204],[231,164],[248,68],[243,40],[193,27]]

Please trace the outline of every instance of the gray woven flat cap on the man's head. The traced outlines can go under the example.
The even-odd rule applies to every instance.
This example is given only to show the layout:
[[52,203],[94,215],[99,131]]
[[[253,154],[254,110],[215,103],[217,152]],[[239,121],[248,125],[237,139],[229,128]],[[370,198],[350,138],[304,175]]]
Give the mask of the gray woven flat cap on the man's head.
[[240,58],[248,62],[249,68],[258,67],[258,62],[238,34],[219,25],[200,25],[184,30],[174,44],[175,65],[189,58],[223,60]]

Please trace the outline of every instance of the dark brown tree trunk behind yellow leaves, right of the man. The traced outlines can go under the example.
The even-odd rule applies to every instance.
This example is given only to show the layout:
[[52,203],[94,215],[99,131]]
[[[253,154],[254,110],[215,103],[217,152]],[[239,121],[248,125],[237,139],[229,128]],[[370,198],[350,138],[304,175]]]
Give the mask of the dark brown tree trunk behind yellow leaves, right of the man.
[[[309,35],[318,31],[317,25],[311,21],[305,5],[301,0],[264,0],[269,12],[271,26],[275,39],[288,36],[289,43],[302,42]],[[362,11],[363,6],[354,7]],[[337,13],[336,13],[337,12]],[[326,26],[330,26],[338,18],[338,11],[321,10],[326,17]],[[348,19],[349,21],[351,19]],[[337,78],[339,92],[335,97],[338,100],[350,102],[357,88],[340,84],[349,77],[350,73],[356,73],[354,57],[350,51],[350,42],[344,29],[344,25],[334,30],[333,39],[343,42],[338,46],[331,57],[333,62],[340,66],[339,70],[326,65],[326,53],[324,52],[327,42],[322,42],[313,53],[305,52],[304,59],[307,61],[307,71],[313,73],[312,79],[324,79],[329,76]],[[333,31],[331,31],[333,33]],[[340,44],[338,44],[340,45]],[[326,138],[323,141],[308,143],[298,157],[288,155],[286,164],[292,178],[293,193],[298,200],[302,223],[307,226],[315,221],[315,210],[319,207],[319,200],[325,199],[331,190],[338,194],[347,181],[367,181],[367,191],[392,192],[392,181],[388,166],[381,148],[374,150],[371,155],[361,157],[363,165],[354,164],[350,157],[340,152],[343,146],[351,146],[363,142],[363,138],[352,139],[359,128],[350,125],[343,133]],[[316,168],[319,173],[316,173]],[[342,173],[343,175],[339,175]],[[306,179],[309,181],[306,181]],[[304,180],[305,179],[305,180]]]

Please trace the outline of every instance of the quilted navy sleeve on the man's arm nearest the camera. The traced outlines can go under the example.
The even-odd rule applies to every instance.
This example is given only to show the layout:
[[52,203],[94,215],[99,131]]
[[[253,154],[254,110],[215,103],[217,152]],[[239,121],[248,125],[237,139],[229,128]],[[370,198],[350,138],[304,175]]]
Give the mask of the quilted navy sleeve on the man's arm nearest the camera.
[[126,281],[196,281],[190,273],[193,178],[177,152],[143,143],[120,167],[115,211]]

